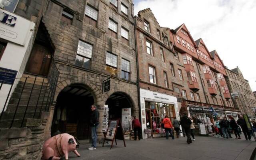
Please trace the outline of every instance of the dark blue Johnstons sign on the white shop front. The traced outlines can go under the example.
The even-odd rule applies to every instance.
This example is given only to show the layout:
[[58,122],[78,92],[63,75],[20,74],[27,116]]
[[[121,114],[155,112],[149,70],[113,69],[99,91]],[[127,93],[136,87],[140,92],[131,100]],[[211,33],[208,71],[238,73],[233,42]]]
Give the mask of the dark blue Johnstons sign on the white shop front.
[[0,67],[0,84],[3,82],[4,84],[13,84],[14,78],[16,78],[17,75],[16,70],[10,70],[7,68],[1,68]]

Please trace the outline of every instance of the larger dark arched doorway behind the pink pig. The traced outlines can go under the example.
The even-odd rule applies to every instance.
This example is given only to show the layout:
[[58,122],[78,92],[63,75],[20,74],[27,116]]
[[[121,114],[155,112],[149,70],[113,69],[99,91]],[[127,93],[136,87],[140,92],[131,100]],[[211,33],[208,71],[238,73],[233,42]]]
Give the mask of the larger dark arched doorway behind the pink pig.
[[51,134],[68,133],[79,140],[89,139],[92,93],[81,84],[64,88],[57,97],[52,120]]

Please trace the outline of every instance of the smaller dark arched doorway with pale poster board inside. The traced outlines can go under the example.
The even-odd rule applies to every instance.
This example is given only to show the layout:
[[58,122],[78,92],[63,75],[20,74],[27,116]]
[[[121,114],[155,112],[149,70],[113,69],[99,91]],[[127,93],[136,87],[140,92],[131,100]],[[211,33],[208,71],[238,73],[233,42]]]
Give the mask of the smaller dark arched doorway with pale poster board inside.
[[130,120],[133,116],[133,102],[130,96],[123,92],[115,92],[106,101],[109,108],[109,120],[120,118],[124,130],[131,128]]

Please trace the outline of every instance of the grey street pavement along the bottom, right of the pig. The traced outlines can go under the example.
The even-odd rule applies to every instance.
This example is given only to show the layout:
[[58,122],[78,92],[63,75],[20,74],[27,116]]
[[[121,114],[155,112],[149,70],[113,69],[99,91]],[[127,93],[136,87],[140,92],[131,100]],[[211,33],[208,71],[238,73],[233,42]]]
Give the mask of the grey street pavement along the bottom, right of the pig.
[[216,137],[196,136],[192,144],[185,138],[153,138],[140,141],[126,140],[126,147],[121,140],[117,145],[102,147],[98,144],[96,150],[87,150],[89,143],[80,144],[78,152],[81,157],[71,152],[70,160],[248,160],[256,147],[256,142],[234,138],[222,139]]

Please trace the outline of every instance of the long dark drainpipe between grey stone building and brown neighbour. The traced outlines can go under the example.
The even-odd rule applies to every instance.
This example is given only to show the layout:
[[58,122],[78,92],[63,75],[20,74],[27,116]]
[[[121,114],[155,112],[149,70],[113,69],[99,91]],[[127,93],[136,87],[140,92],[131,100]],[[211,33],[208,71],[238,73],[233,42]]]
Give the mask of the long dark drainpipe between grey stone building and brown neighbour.
[[[133,8],[133,4],[131,3],[131,8]],[[135,53],[136,53],[136,66],[137,66],[137,92],[138,92],[138,107],[139,107],[139,120],[141,122],[141,108],[140,108],[140,71],[139,71],[139,63],[138,63],[138,47],[137,47],[137,36],[136,36],[136,18],[134,15],[132,15],[132,18],[134,20],[134,42],[135,42]]]

